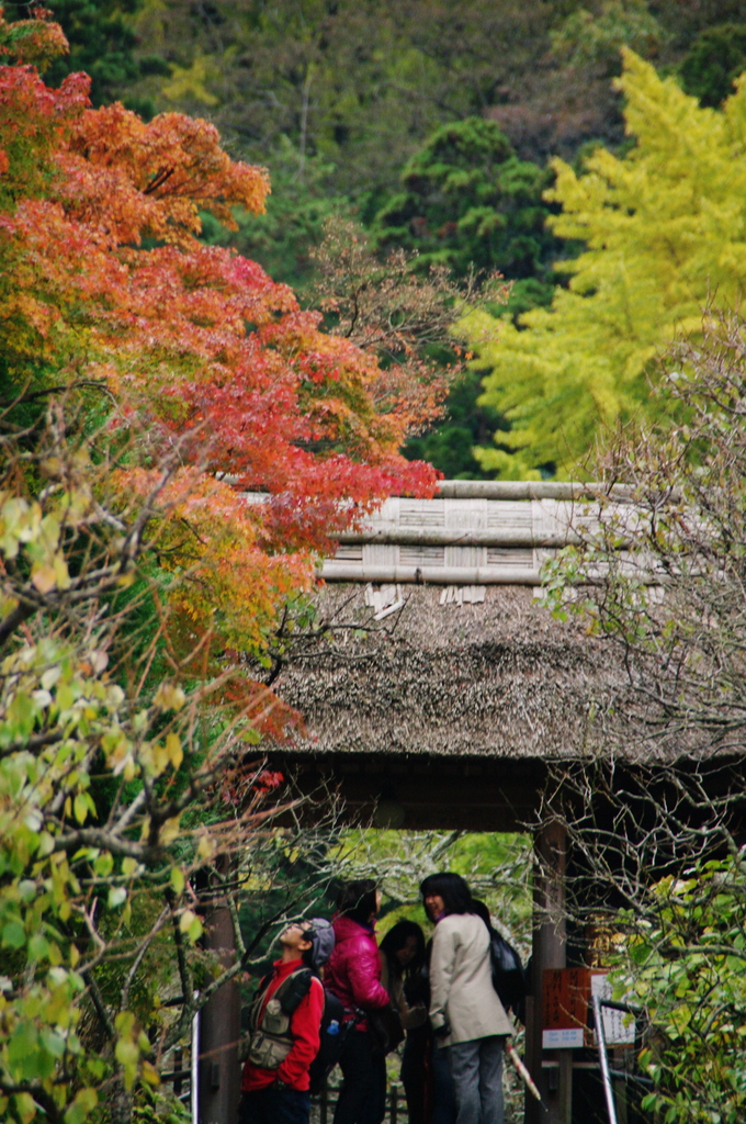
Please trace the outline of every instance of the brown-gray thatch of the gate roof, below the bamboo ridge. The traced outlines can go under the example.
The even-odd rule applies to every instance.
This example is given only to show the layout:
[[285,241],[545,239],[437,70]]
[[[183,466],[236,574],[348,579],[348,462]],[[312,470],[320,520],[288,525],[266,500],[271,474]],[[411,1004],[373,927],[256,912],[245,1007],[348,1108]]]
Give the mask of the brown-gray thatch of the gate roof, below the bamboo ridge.
[[555,620],[535,593],[506,584],[461,595],[443,586],[327,586],[319,619],[342,627],[292,659],[276,683],[306,718],[294,753],[516,760],[588,752],[625,677],[602,642]]

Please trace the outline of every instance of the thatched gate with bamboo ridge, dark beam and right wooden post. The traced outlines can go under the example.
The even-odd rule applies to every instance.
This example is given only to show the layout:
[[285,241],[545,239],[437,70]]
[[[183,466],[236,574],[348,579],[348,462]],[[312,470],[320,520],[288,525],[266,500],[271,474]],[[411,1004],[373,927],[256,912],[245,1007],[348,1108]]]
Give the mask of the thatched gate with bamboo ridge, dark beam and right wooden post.
[[[572,540],[582,489],[445,481],[431,500],[394,498],[343,537],[320,570],[321,643],[294,650],[275,683],[304,716],[283,750],[313,786],[325,776],[381,825],[515,831],[536,814],[548,761],[603,741],[622,669],[577,624],[536,601],[542,562]],[[258,499],[258,497],[257,497]],[[534,991],[566,964],[547,907],[564,892],[565,841],[537,836]],[[529,1000],[527,1060],[548,1113],[570,1124],[572,1052],[543,1051]],[[526,1124],[536,1124],[527,1103]]]

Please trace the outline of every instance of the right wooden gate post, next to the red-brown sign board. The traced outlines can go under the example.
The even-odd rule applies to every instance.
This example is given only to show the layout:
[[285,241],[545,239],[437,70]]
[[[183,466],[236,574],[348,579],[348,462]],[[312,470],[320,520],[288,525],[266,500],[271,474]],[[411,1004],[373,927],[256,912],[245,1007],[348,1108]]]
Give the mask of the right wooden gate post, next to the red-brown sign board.
[[530,1094],[526,1096],[526,1124],[571,1124],[572,1050],[553,1053],[558,1066],[542,1068],[542,982],[551,968],[566,968],[564,921],[567,837],[557,821],[545,824],[536,834],[534,878],[534,939],[531,949],[531,996],[526,1010],[526,1059],[531,1077],[547,1106],[545,1113]]

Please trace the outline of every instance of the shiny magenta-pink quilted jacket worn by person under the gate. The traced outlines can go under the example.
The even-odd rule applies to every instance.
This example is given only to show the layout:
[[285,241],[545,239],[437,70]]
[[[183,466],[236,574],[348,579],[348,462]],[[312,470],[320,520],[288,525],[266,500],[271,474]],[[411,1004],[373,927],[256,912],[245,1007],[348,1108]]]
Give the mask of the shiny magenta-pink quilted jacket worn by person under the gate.
[[[342,999],[345,1007],[375,1010],[388,1007],[389,992],[381,984],[381,957],[375,933],[349,917],[335,917],[336,944],[324,971],[324,986]],[[349,1018],[354,1018],[349,1015]],[[367,1030],[367,1021],[357,1023]]]

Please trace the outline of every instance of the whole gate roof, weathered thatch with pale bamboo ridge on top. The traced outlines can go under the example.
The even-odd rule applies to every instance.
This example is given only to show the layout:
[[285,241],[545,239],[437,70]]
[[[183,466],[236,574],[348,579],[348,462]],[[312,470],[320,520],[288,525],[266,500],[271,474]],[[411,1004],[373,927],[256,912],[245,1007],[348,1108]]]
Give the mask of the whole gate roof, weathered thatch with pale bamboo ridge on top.
[[344,535],[321,568],[330,638],[276,685],[306,718],[294,752],[509,762],[592,749],[625,678],[602,643],[535,604],[583,491],[443,481]]

